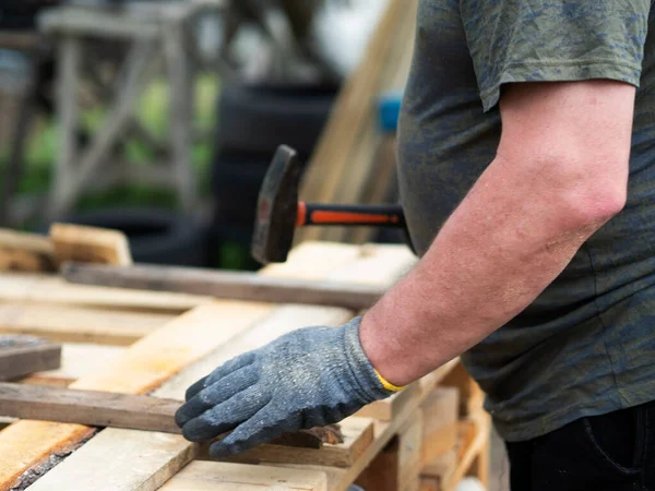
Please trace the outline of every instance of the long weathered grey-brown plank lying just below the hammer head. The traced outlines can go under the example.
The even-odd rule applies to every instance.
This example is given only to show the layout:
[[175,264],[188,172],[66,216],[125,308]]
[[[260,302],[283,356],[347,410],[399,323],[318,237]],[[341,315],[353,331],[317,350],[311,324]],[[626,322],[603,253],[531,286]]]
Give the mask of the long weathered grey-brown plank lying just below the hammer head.
[[83,285],[209,295],[230,300],[334,306],[354,310],[370,308],[384,294],[383,288],[369,285],[155,265],[115,267],[67,263],[62,266],[61,275],[70,283]]

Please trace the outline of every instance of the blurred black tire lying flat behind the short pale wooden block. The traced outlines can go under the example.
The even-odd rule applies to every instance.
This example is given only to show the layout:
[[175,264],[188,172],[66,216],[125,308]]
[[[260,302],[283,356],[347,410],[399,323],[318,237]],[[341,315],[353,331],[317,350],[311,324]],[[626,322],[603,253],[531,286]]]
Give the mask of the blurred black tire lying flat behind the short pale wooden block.
[[207,227],[166,209],[100,209],[61,221],[121,230],[138,263],[203,267],[207,262]]

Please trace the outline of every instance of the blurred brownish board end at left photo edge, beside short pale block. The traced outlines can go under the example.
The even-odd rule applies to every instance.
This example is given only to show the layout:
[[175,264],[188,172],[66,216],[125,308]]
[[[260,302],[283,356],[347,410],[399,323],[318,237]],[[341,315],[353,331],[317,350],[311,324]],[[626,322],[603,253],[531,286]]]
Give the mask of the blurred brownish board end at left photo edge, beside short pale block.
[[47,237],[0,229],[0,271],[53,272],[55,250]]

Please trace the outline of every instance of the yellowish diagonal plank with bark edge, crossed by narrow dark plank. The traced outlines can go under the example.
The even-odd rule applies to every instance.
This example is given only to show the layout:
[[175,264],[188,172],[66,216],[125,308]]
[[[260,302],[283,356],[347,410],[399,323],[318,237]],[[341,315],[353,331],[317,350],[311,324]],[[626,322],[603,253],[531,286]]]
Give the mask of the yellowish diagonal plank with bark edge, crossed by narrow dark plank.
[[[184,366],[202,358],[270,312],[267,304],[215,302],[177,318],[127,349],[106,370],[87,375],[73,388],[139,394],[152,391]],[[221,328],[216,320],[221,319]],[[29,469],[50,467],[52,454],[68,453],[93,434],[88,427],[19,421],[0,432],[0,490],[25,487]],[[24,477],[22,479],[22,477]],[[52,489],[52,488],[50,488]]]

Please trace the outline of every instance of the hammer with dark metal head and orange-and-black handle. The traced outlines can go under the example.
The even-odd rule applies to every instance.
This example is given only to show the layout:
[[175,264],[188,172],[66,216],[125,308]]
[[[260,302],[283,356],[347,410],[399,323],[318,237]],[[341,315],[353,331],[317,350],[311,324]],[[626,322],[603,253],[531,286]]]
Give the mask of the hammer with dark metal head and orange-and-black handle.
[[306,225],[376,226],[405,228],[398,204],[342,205],[298,201],[302,165],[293,148],[277,147],[259,195],[252,256],[262,264],[287,260],[296,227]]

